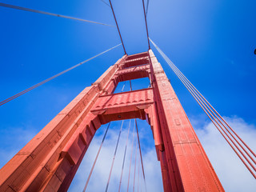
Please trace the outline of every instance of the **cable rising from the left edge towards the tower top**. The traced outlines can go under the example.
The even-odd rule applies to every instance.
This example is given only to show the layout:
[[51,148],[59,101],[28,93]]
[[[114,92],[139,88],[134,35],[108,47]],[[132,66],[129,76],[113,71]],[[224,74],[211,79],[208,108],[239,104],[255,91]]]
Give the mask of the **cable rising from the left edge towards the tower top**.
[[[117,46],[120,46],[121,43]],[[113,50],[114,48],[116,48],[117,46],[113,46],[112,48],[110,48],[109,50],[105,50],[103,51],[102,53],[100,54],[97,54],[95,55],[94,57],[92,58],[88,58],[86,61],[83,61],[83,62],[80,62],[78,63],[77,65],[75,66],[72,66],[70,67],[69,69],[67,70],[63,70],[61,73],[58,73],[58,74],[55,74],[54,76],[50,77],[50,78],[47,78],[46,80],[42,81],[42,82],[39,82],[38,84],[34,85],[34,86],[30,86],[30,88],[26,89],[26,90],[23,90],[22,92],[18,93],[18,94],[14,94],[14,96],[10,97],[10,98],[6,98],[5,100],[3,100],[2,102],[0,102],[0,106],[2,106],[3,104],[6,104],[6,102],[10,102],[11,100],[13,100],[14,98],[18,98],[19,96],[21,96],[22,94],[26,94],[27,92],[29,92],[30,90],[34,90],[34,88],[37,88],[38,86],[41,86],[42,84],[46,83],[46,82],[49,82],[50,80],[54,79],[54,78],[57,78],[58,76],[62,75],[62,74],[65,74],[66,72],[70,71],[70,70],[73,70],[74,68],[78,67],[78,66],[81,66],[82,64],[86,63],[86,62],[89,62],[90,60],[92,60],[93,58],[97,58],[99,55],[101,54],[105,54],[106,52],[110,51],[110,50]]]

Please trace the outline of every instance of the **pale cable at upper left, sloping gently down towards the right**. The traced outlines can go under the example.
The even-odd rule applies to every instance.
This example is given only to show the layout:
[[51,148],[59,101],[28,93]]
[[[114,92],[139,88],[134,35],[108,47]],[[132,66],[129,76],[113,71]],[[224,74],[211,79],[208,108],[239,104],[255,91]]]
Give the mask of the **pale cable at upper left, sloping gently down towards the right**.
[[[103,25],[103,26],[111,26],[109,24],[105,24],[105,23],[102,23],[102,22],[93,22],[93,21],[89,21],[89,20],[86,20],[86,19],[73,18],[73,17],[70,17],[70,16],[62,15],[62,14],[53,14],[53,13],[49,13],[49,12],[42,11],[42,10],[32,10],[30,8],[26,8],[26,7],[22,7],[22,6],[13,6],[13,5],[2,3],[2,2],[0,2],[0,6],[6,7],[6,8],[11,8],[11,9],[14,9],[14,10],[25,10],[25,11],[29,11],[29,12],[33,12],[33,13],[37,13],[37,14],[47,14],[47,15],[58,17],[58,18],[69,18],[69,19],[74,19],[74,20],[81,21],[81,22],[91,22],[91,23],[99,24],[99,25]],[[114,27],[114,26],[112,26],[112,27]]]

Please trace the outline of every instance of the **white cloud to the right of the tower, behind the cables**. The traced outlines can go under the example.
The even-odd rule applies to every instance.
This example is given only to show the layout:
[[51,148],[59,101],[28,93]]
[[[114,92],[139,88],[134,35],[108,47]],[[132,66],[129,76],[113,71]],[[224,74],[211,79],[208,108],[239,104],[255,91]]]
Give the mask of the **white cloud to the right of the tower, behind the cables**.
[[[206,123],[200,117],[198,119],[193,118],[191,122],[224,189],[232,192],[255,191],[255,179],[225,139],[222,138],[222,135],[219,134],[214,124],[212,122]],[[242,118],[225,119],[246,144],[255,151],[256,127],[246,123]]]

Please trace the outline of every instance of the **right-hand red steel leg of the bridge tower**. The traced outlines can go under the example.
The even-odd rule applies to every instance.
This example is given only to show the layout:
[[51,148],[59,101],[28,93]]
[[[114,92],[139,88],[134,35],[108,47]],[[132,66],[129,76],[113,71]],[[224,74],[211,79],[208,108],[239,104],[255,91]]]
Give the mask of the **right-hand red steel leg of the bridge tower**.
[[[165,191],[224,191],[162,66],[149,50],[154,101],[158,108],[159,155]],[[170,181],[166,176],[166,164]],[[171,186],[171,189],[170,189]]]

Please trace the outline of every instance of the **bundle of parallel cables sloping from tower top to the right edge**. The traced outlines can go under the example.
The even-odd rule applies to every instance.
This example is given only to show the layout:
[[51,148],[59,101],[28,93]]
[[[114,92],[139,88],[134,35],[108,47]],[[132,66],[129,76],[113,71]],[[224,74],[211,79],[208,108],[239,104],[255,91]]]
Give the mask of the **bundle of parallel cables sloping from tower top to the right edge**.
[[[182,83],[184,84],[184,86],[186,86],[186,88],[190,91],[190,94],[192,94],[192,96],[194,97],[194,99],[196,100],[196,102],[198,102],[199,106],[202,107],[202,110],[204,110],[204,112],[206,113],[206,115],[210,118],[210,120],[214,123],[214,126],[216,126],[216,128],[218,129],[218,131],[222,134],[223,138],[225,138],[226,142],[229,143],[229,145],[231,146],[231,148],[234,150],[234,152],[238,155],[238,158],[241,159],[241,161],[243,162],[243,164],[246,166],[246,168],[250,171],[250,173],[254,176],[254,178],[256,178],[253,170],[250,169],[250,167],[246,164],[246,162],[248,162],[250,164],[250,166],[254,169],[254,171],[256,171],[254,165],[250,162],[250,160],[246,157],[247,156],[254,162],[255,164],[255,160],[254,158],[251,157],[251,155],[248,153],[247,150],[250,151],[251,154],[254,155],[255,154],[252,150],[250,150],[250,147],[246,145],[245,142],[242,141],[242,138],[240,138],[238,136],[238,134],[236,134],[234,132],[234,130],[229,126],[229,124],[222,118],[222,116],[220,114],[218,114],[218,112],[214,109],[213,106],[210,105],[210,102],[208,102],[206,100],[206,98],[204,98],[202,96],[202,94],[193,86],[193,84],[185,77],[184,74],[182,74],[182,72],[180,70],[178,70],[177,66],[174,65],[173,62],[170,61],[169,58],[167,58],[166,54],[164,54],[162,52],[162,50],[159,49],[158,46],[155,45],[155,43],[150,39],[150,41],[153,43],[153,45],[155,46],[155,48],[158,50],[158,52],[162,55],[162,57],[166,60],[166,62],[168,63],[168,65],[170,66],[170,68],[172,70],[174,70],[174,73],[178,76],[178,78],[182,81]],[[215,112],[215,113],[214,113]],[[218,121],[217,121],[218,120]],[[222,121],[221,121],[222,120]],[[220,122],[220,123],[219,123]],[[222,124],[222,126],[220,125]],[[226,125],[225,125],[226,124]],[[230,128],[230,130],[235,134],[235,136],[237,136],[238,140],[240,140],[242,142],[242,144],[244,144],[244,146],[246,146],[247,150],[242,146],[242,144],[240,142],[238,142],[238,140],[234,137],[234,135],[230,132],[230,130],[228,130],[227,126]],[[222,130],[220,130],[220,129]],[[229,133],[227,134],[226,131]],[[224,135],[226,134],[226,136]],[[234,140],[232,138],[230,138],[230,135],[232,138],[234,138]],[[230,143],[230,141],[227,138],[230,139],[230,141],[233,143],[233,145],[237,148],[237,150],[240,152],[240,154],[242,154],[243,158],[246,159],[246,162],[244,161],[244,159],[242,159],[242,157],[240,156],[240,154],[238,154],[238,151],[234,149],[234,146],[232,146],[232,144]],[[242,150],[246,153],[244,154],[242,152],[242,150],[237,146],[237,144],[242,148]]]

